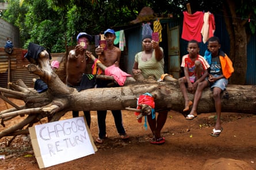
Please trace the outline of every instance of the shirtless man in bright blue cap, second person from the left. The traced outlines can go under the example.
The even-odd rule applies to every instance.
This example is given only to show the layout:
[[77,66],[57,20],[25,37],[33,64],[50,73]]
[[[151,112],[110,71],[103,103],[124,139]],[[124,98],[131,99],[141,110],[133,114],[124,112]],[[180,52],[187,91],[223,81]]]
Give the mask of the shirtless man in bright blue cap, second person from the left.
[[[106,50],[98,46],[95,49],[95,54],[98,55],[98,60],[105,66],[116,65],[119,67],[119,61],[121,57],[121,50],[114,46],[114,39],[116,39],[116,34],[114,30],[107,29],[104,31],[104,37],[106,40]],[[103,73],[104,74],[104,73]],[[108,80],[97,80],[97,88],[106,88],[108,84],[112,83],[112,81]],[[116,124],[117,132],[119,133],[121,139],[128,139],[129,136],[125,133],[121,110],[111,110],[114,122]],[[99,134],[96,139],[97,143],[103,143],[104,139],[107,137],[106,135],[106,113],[107,110],[98,110],[98,128]]]

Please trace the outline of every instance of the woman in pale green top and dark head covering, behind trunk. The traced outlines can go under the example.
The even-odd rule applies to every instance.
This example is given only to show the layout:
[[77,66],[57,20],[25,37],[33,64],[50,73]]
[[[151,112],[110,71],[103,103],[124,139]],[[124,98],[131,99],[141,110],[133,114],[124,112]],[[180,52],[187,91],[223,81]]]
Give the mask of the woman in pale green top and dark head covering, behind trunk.
[[[142,37],[143,51],[135,55],[132,73],[142,74],[143,78],[154,76],[155,80],[159,80],[164,74],[164,54],[163,49],[158,42],[152,40],[152,35],[143,35]],[[147,115],[147,121],[153,133],[151,144],[163,144],[165,138],[161,136],[161,130],[165,125],[168,110],[156,110],[158,117],[152,113]]]

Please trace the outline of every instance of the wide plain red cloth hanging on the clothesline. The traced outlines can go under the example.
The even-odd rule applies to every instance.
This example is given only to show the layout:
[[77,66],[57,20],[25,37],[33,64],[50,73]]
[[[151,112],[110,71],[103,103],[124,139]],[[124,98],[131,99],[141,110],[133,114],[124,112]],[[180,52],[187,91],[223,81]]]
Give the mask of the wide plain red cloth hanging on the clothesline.
[[194,14],[189,14],[187,11],[184,11],[183,14],[184,20],[181,38],[186,41],[195,39],[198,42],[202,42],[201,30],[202,24],[204,23],[204,13],[197,11]]

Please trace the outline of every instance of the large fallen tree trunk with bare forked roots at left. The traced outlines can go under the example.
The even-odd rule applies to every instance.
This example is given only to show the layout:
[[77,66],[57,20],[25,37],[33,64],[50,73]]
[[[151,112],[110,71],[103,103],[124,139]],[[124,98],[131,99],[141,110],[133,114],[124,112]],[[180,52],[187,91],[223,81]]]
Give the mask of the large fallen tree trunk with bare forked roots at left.
[[[41,118],[48,117],[57,121],[70,110],[122,110],[136,108],[137,97],[144,93],[151,93],[155,99],[155,109],[168,109],[181,112],[184,109],[184,97],[179,90],[178,80],[168,78],[163,82],[151,79],[133,81],[127,78],[124,86],[117,88],[94,88],[78,92],[68,88],[52,71],[46,50],[40,53],[39,65],[26,66],[31,73],[40,76],[48,85],[44,93],[37,93],[33,88],[27,88],[22,81],[10,83],[10,89],[0,88],[3,100],[7,97],[17,98],[25,102],[24,106],[3,110],[0,112],[1,124],[18,115],[24,120],[12,127],[6,127],[0,132],[3,136],[14,136],[28,133],[26,130]],[[189,94],[193,100],[193,94]],[[222,112],[256,113],[256,90],[254,85],[229,85],[221,96]],[[212,92],[209,88],[202,93],[198,105],[198,113],[215,112]]]

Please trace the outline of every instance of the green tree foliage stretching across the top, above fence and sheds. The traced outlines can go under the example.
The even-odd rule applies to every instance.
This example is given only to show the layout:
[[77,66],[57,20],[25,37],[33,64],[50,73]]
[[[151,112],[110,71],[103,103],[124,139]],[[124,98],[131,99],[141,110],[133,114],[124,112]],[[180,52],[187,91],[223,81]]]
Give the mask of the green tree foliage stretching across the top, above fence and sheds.
[[[140,10],[150,6],[159,16],[182,17],[186,4],[190,3],[192,12],[211,11],[220,13],[222,1],[181,1],[181,0],[9,0],[3,18],[20,29],[24,48],[29,42],[45,46],[52,52],[64,52],[65,42],[76,44],[76,36],[85,31],[91,35],[120,25],[129,25],[136,19]],[[247,22],[249,32],[255,34],[256,0],[234,1],[239,17],[251,18]]]

